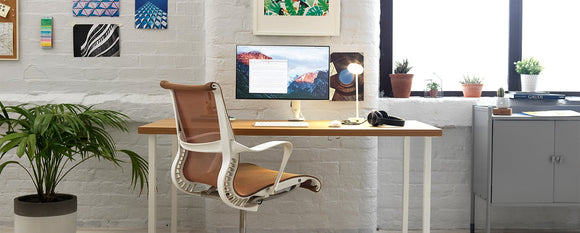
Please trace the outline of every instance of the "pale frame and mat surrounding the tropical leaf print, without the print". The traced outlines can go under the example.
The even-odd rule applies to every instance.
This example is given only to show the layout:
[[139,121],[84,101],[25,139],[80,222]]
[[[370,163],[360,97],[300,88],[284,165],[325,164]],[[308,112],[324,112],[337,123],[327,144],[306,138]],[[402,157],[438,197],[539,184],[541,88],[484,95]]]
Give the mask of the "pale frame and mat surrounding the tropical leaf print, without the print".
[[[340,0],[329,0],[324,15],[267,15],[264,3],[276,0],[254,0],[254,35],[338,36],[340,35]],[[317,0],[314,0],[317,1]],[[285,2],[282,0],[280,2]],[[282,4],[282,3],[278,4]],[[300,4],[301,1],[298,1]],[[305,26],[307,25],[307,26]]]

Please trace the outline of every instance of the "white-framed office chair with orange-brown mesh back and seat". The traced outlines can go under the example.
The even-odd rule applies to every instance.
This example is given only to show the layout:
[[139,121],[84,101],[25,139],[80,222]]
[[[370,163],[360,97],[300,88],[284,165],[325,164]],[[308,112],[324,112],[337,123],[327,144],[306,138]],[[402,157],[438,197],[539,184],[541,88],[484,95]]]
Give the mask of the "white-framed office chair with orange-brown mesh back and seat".
[[[320,191],[320,180],[284,172],[292,143],[270,141],[254,147],[238,143],[230,125],[220,85],[181,85],[161,81],[170,90],[177,123],[178,150],[171,178],[187,194],[221,199],[240,209],[240,233],[245,233],[246,211],[257,211],[265,200],[298,187]],[[278,171],[241,163],[240,153],[283,146]]]

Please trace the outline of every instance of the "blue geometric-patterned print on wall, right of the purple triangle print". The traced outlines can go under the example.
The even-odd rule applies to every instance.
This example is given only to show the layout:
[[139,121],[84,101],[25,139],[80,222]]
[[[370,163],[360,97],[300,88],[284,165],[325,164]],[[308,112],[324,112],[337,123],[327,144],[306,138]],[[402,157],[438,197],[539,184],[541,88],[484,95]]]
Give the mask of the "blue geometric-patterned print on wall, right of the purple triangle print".
[[135,0],[135,28],[167,29],[167,0]]

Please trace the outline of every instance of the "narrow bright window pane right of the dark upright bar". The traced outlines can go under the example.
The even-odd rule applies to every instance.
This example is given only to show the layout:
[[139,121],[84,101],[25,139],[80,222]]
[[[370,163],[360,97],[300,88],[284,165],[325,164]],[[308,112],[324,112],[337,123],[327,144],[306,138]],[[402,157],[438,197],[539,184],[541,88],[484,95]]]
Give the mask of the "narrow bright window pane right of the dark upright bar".
[[580,91],[580,1],[524,0],[522,57],[544,66],[538,91]]

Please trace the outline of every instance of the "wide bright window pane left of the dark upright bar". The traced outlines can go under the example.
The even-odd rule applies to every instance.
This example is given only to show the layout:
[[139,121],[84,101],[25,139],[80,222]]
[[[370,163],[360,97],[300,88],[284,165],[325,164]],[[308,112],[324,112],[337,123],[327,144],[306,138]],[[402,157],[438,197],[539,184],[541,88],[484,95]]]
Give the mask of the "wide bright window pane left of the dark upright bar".
[[394,0],[393,60],[409,59],[414,91],[433,73],[444,91],[461,90],[465,74],[507,89],[508,24],[506,0]]

